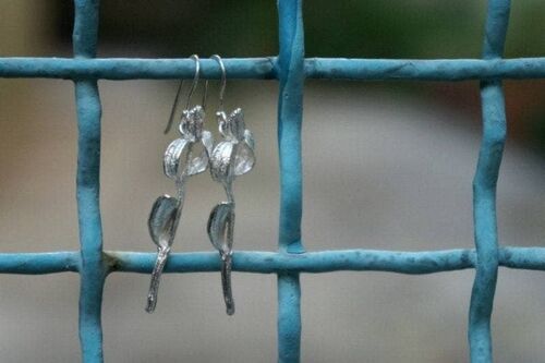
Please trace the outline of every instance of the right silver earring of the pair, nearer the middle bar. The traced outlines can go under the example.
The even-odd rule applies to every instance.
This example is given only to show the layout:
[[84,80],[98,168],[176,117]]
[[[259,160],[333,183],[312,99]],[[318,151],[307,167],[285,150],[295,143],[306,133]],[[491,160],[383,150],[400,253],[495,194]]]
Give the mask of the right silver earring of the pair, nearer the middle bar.
[[210,173],[215,181],[221,183],[227,194],[227,202],[214,207],[208,218],[208,238],[221,261],[221,287],[226,301],[227,314],[234,314],[234,301],[231,289],[231,265],[234,230],[234,195],[233,181],[235,177],[245,174],[255,164],[254,138],[244,125],[240,108],[227,116],[223,110],[223,94],[227,74],[223,61],[217,55],[211,56],[221,69],[221,86],[219,92],[219,109],[216,112],[219,133],[222,141],[210,153]]

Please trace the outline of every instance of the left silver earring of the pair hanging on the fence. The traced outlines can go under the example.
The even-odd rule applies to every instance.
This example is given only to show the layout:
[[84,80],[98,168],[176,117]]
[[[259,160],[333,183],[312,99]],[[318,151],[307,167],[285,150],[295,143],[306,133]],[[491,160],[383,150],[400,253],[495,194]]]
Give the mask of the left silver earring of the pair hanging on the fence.
[[[157,245],[157,261],[152,273],[152,282],[147,295],[146,312],[153,313],[157,305],[157,293],[162,270],[167,264],[170,249],[174,241],[175,230],[182,214],[185,198],[185,183],[187,178],[206,170],[208,154],[211,152],[214,140],[211,133],[203,130],[205,120],[205,105],[208,82],[205,83],[202,105],[190,109],[191,96],[198,84],[201,62],[196,55],[191,56],[195,61],[195,76],[187,95],[185,109],[180,121],[181,137],[170,143],[164,156],[165,174],[175,182],[177,196],[162,195],[155,201],[148,219],[149,234]],[[180,100],[183,81],[180,82],[165,133],[168,133],[174,119],[175,109]],[[196,149],[198,145],[202,149]]]

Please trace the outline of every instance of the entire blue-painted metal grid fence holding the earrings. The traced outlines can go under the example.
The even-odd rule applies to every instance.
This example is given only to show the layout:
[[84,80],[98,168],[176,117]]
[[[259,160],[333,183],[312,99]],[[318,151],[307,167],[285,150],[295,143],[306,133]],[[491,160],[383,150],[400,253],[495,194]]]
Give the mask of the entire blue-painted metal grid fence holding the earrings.
[[[491,314],[499,266],[545,270],[544,247],[499,247],[496,183],[506,140],[502,78],[543,78],[545,58],[501,59],[509,0],[488,0],[483,59],[387,60],[304,58],[302,0],[278,0],[278,57],[226,59],[231,78],[278,80],[278,150],[280,156],[279,251],[237,251],[233,270],[278,276],[278,361],[299,362],[301,273],[379,270],[433,274],[475,268],[469,312],[471,362],[492,362]],[[102,250],[99,209],[100,98],[98,80],[191,78],[189,59],[96,59],[98,0],[75,0],[74,58],[0,58],[0,77],[72,80],[78,125],[77,209],[80,251],[0,254],[2,274],[78,273],[80,340],[85,363],[102,362],[100,308],[110,273],[149,274],[155,253]],[[219,78],[214,60],[202,61],[205,78]],[[475,250],[372,251],[306,253],[301,238],[301,124],[305,78],[481,81],[483,137],[473,181]],[[219,270],[214,252],[174,253],[166,273]]]

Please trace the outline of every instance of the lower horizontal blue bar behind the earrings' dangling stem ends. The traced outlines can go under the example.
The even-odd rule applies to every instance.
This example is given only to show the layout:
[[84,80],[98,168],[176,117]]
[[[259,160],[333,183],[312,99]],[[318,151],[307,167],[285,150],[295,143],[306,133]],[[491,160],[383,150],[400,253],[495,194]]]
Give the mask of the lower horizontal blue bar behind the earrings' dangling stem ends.
[[[149,274],[156,254],[105,252],[110,271]],[[77,271],[80,252],[1,253],[0,274],[40,275]],[[233,270],[277,274],[286,271],[332,273],[342,270],[433,274],[473,268],[475,250],[398,252],[378,250],[339,250],[287,254],[235,251]],[[501,247],[499,265],[509,268],[545,270],[545,247]],[[166,273],[209,273],[219,270],[216,252],[173,253]]]

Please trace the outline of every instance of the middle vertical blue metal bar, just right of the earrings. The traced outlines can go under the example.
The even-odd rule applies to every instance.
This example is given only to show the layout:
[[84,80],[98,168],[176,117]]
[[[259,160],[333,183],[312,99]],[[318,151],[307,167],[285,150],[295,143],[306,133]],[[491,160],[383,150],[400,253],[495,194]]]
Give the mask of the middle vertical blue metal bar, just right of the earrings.
[[[304,252],[301,242],[304,36],[302,0],[278,0],[278,148],[280,157],[279,249]],[[301,287],[298,273],[278,275],[278,362],[301,354]]]

